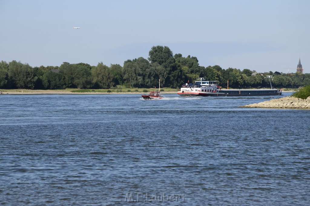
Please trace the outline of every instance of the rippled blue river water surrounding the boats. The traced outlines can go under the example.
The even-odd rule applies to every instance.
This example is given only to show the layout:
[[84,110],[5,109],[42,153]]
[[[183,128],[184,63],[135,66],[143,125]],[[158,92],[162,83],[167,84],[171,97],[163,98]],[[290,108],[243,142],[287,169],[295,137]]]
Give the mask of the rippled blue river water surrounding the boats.
[[310,110],[273,97],[1,95],[0,204],[308,205]]

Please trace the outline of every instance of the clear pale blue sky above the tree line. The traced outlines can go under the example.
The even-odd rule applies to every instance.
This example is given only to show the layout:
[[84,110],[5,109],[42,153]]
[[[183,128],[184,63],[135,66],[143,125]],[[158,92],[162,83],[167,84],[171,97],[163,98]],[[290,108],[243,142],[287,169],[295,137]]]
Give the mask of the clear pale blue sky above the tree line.
[[310,1],[0,0],[0,61],[123,66],[157,45],[258,72],[286,73],[300,57],[310,73]]

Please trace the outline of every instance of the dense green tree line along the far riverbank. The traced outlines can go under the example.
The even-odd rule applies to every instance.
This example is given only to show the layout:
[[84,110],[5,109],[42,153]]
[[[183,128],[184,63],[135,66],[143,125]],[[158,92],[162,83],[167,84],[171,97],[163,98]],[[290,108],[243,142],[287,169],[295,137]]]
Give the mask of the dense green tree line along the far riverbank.
[[0,62],[0,88],[19,89],[63,89],[93,88],[110,89],[117,85],[128,88],[162,87],[179,88],[185,82],[194,82],[199,77],[219,81],[223,87],[263,88],[270,87],[267,75],[272,75],[272,86],[277,88],[298,88],[310,85],[310,74],[284,74],[280,72],[256,73],[250,69],[228,68],[219,65],[200,66],[196,57],[173,55],[166,46],[153,46],[148,59],[139,57],[126,60],[123,67],[119,64],[96,66],[87,63],[60,66],[31,67],[17,61]]

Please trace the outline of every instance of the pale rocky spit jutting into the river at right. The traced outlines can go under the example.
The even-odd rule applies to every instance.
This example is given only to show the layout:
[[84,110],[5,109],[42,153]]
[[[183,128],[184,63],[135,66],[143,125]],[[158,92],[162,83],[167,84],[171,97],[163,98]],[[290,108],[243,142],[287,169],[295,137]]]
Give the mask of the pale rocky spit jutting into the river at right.
[[289,109],[310,109],[310,97],[307,99],[300,99],[295,97],[282,97],[279,99],[272,99],[260,103],[249,104],[241,107],[249,108],[289,108]]

